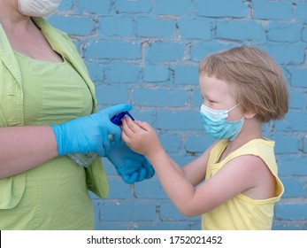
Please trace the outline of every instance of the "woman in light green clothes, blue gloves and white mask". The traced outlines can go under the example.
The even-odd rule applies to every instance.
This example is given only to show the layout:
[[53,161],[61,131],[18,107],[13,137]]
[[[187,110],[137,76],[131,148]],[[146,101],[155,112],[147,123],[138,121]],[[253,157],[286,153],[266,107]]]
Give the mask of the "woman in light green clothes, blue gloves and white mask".
[[[107,156],[123,178],[134,174],[130,183],[153,175],[141,155],[113,149],[122,143],[110,118],[132,106],[96,112],[94,84],[73,43],[42,19],[59,4],[0,0],[0,229],[94,229],[88,190],[106,197],[104,167],[99,158],[78,166],[66,154]],[[120,170],[127,155],[129,172]]]

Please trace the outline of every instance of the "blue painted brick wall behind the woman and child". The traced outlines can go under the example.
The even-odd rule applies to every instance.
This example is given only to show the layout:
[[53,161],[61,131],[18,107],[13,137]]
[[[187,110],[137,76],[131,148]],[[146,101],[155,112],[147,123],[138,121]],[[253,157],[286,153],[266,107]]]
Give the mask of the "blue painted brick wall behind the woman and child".
[[[291,103],[286,120],[264,126],[276,141],[286,191],[273,229],[307,229],[307,0],[65,0],[50,22],[68,33],[96,83],[99,108],[134,105],[180,164],[212,142],[203,134],[197,65],[241,44],[282,67]],[[154,177],[127,185],[104,159],[109,198],[92,195],[96,229],[200,229],[181,215]]]

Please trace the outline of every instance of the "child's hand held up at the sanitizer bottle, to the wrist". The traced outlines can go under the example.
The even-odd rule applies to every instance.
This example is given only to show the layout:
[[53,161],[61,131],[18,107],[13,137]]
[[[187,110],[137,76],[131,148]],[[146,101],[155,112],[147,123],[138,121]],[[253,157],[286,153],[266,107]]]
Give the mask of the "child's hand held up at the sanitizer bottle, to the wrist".
[[122,122],[121,137],[132,150],[148,157],[162,149],[157,134],[150,124],[130,118],[124,118]]

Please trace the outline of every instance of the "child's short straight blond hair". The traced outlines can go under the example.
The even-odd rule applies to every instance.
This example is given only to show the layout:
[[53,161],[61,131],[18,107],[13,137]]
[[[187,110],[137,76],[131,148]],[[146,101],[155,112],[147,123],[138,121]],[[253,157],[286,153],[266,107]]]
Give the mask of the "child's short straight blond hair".
[[211,54],[199,66],[229,84],[243,112],[256,112],[257,120],[281,120],[288,112],[288,87],[280,66],[263,50],[237,47]]

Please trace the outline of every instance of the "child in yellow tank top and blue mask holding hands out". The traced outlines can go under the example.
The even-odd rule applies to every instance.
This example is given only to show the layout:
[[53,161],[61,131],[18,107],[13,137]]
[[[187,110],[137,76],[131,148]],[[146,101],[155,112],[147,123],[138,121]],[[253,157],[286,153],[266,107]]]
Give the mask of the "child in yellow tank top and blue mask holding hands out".
[[272,229],[284,189],[274,142],[261,125],[288,112],[280,67],[263,50],[243,46],[205,58],[199,75],[203,128],[218,139],[200,157],[178,166],[146,122],[123,120],[122,138],[150,160],[180,213],[202,214],[202,229]]

